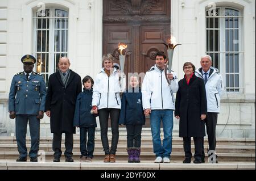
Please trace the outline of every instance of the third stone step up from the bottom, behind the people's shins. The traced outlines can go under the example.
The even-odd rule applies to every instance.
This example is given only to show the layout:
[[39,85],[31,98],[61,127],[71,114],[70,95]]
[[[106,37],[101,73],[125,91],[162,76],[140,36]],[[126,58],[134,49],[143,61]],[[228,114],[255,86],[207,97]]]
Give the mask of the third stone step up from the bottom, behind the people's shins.
[[[31,145],[27,144],[28,150],[30,149]],[[152,145],[141,145],[142,151],[144,152],[153,152]],[[192,150],[194,150],[195,146],[191,145]],[[44,151],[52,151],[52,144],[40,144],[40,150]],[[61,149],[65,150],[64,144],[61,145]],[[205,152],[207,151],[208,146],[205,145]],[[17,145],[16,144],[0,144],[0,151],[16,151]],[[94,151],[102,151],[101,144],[95,144]],[[118,144],[117,147],[118,151],[126,151],[125,144]],[[73,151],[80,151],[80,144],[73,145]],[[172,145],[172,151],[174,152],[181,152],[183,153],[183,145]],[[216,146],[216,153],[255,153],[255,146],[251,145],[217,145]]]

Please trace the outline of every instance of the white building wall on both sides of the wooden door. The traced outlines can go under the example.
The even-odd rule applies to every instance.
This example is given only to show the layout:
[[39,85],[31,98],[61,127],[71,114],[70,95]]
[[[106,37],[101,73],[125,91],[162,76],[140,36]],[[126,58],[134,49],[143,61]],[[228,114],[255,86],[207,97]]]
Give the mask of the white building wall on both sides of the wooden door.
[[[13,124],[8,118],[7,98],[15,73],[22,71],[20,57],[32,52],[32,11],[40,2],[65,6],[69,11],[69,58],[71,69],[93,78],[101,68],[102,0],[0,0],[0,127]],[[192,61],[200,66],[204,54],[204,12],[217,0],[172,0],[171,33],[181,43],[175,49],[174,70],[183,77],[182,66]],[[224,95],[218,119],[218,136],[255,137],[255,0],[225,0],[240,4],[245,11],[245,56],[242,94]],[[229,116],[228,116],[229,115]],[[42,120],[42,136],[49,135],[49,119]],[[175,128],[179,122],[175,120]],[[13,125],[7,126],[9,133]],[[225,130],[222,132],[222,129]]]

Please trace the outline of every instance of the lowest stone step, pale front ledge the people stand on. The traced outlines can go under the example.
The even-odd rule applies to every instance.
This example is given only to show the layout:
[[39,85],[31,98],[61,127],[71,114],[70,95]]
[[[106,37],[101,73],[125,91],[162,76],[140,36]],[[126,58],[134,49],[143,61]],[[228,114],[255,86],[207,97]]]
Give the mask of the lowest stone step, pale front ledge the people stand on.
[[[236,163],[204,163],[204,164],[183,164],[183,163],[127,163],[117,161],[115,163],[102,163],[99,161],[93,161],[91,163],[80,163],[80,162],[12,162],[12,161],[0,161],[0,169],[2,170],[240,170],[240,169],[250,169],[255,170],[255,163],[247,162],[236,162]],[[102,171],[102,173],[105,171]],[[154,172],[154,171],[151,171]]]

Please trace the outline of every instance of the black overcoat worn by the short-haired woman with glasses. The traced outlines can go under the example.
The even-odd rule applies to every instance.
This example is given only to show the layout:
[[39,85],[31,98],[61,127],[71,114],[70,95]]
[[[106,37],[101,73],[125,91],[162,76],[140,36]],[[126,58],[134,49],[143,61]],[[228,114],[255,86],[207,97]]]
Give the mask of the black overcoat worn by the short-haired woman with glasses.
[[175,102],[175,116],[180,116],[179,136],[205,136],[205,124],[201,120],[202,114],[207,115],[204,81],[194,74],[188,85],[184,77],[179,81]]

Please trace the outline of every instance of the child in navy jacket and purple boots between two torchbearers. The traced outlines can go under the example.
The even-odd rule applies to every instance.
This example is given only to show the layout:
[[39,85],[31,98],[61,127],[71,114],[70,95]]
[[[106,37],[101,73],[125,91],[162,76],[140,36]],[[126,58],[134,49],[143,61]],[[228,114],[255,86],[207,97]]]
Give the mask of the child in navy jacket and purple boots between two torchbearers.
[[141,162],[139,155],[141,154],[141,132],[142,125],[145,124],[145,116],[138,77],[130,77],[129,84],[129,89],[122,95],[119,124],[126,125],[128,162]]

